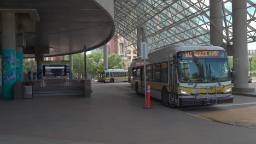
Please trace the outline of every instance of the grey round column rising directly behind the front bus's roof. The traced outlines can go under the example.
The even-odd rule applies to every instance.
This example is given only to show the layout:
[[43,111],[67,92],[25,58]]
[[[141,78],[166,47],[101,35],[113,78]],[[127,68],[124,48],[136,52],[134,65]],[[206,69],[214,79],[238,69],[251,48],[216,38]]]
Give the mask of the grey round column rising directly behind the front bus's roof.
[[222,1],[210,0],[210,18],[211,44],[216,46],[223,46]]

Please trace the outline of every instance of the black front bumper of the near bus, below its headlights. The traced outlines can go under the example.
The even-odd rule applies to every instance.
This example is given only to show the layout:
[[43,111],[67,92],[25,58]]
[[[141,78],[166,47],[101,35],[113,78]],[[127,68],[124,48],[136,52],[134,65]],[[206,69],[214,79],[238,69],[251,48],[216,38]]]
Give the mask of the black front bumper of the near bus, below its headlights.
[[215,95],[189,95],[179,97],[179,106],[195,106],[195,105],[212,105],[212,104],[225,104],[233,103],[232,94],[217,94],[217,99]]

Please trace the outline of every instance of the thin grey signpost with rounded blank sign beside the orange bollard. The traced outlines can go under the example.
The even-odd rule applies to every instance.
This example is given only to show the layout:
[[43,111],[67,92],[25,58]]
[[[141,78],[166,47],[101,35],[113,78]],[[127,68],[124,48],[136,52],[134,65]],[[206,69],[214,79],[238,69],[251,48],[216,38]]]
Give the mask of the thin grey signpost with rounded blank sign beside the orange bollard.
[[147,107],[147,82],[146,82],[146,59],[148,59],[148,44],[143,41],[141,43],[141,59],[144,59],[144,93],[145,93],[145,109],[150,109]]

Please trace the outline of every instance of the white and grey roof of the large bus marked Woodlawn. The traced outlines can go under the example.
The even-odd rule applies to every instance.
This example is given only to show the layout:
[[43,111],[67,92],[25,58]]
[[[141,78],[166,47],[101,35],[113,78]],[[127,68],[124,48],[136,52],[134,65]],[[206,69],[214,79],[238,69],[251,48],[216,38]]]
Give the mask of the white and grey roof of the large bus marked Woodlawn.
[[[223,47],[213,45],[169,45],[148,53],[147,63],[156,63],[172,61],[173,56],[179,51],[197,51],[197,50],[219,50],[225,51]],[[141,57],[132,59],[132,63],[141,60]],[[132,64],[134,66],[135,64]]]

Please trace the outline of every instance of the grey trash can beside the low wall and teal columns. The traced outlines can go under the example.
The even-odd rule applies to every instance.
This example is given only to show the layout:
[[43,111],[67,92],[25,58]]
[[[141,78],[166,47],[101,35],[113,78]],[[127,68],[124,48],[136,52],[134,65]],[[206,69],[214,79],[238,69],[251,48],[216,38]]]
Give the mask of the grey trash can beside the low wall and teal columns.
[[22,99],[33,99],[34,83],[32,81],[23,82],[23,97]]

